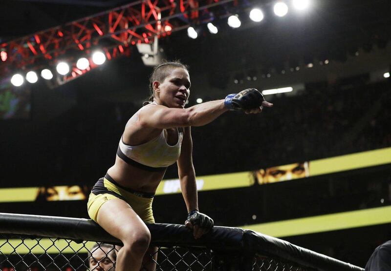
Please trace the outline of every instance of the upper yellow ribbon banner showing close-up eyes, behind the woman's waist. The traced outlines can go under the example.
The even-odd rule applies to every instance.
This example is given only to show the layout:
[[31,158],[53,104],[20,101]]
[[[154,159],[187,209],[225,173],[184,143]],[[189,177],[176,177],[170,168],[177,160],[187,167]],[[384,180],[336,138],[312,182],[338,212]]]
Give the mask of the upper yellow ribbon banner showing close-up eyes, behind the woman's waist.
[[[391,163],[391,148],[299,162],[289,165],[259,169],[252,172],[197,176],[197,190],[208,191],[249,187],[259,184],[287,181],[310,176],[330,174]],[[0,189],[0,202],[28,202],[35,200],[85,200],[87,186],[53,186]],[[163,180],[156,195],[180,193],[179,179]]]

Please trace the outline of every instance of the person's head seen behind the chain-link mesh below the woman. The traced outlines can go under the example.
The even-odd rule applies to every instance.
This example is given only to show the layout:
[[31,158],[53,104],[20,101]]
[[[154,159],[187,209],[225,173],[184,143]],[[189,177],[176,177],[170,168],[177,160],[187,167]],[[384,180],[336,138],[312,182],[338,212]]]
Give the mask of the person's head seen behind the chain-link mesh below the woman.
[[95,243],[88,252],[90,271],[115,271],[117,253],[115,246],[105,243]]

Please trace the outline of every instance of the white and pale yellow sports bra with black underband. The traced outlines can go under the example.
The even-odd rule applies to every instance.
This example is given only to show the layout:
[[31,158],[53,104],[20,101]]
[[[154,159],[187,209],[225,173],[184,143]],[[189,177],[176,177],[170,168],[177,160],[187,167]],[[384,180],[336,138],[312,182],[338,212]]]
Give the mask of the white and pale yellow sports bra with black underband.
[[127,145],[123,135],[119,141],[117,155],[135,167],[147,171],[164,171],[178,160],[183,139],[183,128],[176,128],[178,141],[174,146],[167,144],[164,129],[159,136],[140,145]]

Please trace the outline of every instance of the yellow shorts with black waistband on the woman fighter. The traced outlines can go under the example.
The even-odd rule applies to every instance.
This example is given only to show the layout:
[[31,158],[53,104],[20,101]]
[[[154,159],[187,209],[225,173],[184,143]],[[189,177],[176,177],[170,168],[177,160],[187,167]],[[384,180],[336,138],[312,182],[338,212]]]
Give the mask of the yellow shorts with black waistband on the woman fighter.
[[153,193],[133,191],[116,183],[109,174],[100,178],[88,197],[89,217],[96,222],[99,209],[108,200],[119,198],[129,203],[130,207],[145,223],[155,223],[152,213]]

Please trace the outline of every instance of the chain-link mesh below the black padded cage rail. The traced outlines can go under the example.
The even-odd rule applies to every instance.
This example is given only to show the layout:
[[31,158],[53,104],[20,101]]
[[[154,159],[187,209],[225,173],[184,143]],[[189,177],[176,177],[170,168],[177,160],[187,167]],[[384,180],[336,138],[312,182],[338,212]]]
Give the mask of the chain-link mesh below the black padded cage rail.
[[[1,271],[114,271],[120,247],[99,242],[0,234]],[[141,270],[212,271],[225,270],[227,257],[207,248],[157,247]],[[239,257],[230,257],[240,265]],[[230,263],[232,266],[232,263]],[[99,266],[99,268],[98,268]],[[238,270],[240,270],[240,267]],[[292,263],[269,257],[254,257],[253,271],[306,271]]]

